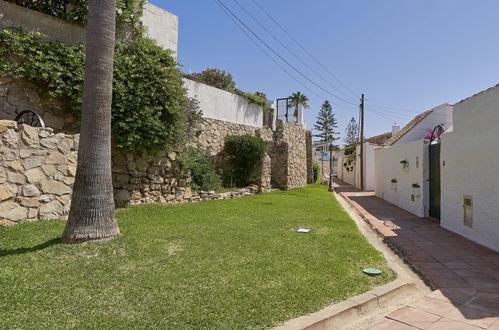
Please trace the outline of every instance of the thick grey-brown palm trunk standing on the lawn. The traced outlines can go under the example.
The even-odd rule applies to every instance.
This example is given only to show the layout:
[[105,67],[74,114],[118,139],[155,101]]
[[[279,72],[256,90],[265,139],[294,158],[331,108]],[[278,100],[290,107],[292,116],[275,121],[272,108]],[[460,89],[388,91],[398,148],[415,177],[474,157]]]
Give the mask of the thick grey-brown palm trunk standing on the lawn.
[[64,243],[119,235],[111,176],[111,102],[116,0],[89,0],[78,165]]

